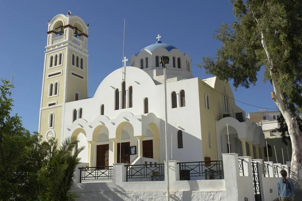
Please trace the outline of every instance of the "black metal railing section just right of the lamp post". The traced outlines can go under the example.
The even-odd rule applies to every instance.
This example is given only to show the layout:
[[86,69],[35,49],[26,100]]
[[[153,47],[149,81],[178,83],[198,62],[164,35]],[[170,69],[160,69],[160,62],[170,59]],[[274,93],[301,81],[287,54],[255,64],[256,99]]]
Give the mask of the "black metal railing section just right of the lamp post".
[[180,180],[191,180],[191,177],[204,177],[198,179],[223,179],[222,161],[197,161],[179,164]]

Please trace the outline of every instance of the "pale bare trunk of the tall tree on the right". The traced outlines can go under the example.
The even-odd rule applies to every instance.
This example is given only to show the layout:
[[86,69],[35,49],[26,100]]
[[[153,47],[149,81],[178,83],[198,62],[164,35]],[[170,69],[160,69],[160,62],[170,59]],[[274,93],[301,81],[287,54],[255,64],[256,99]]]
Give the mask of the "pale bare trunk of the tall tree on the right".
[[272,58],[270,57],[270,53],[268,51],[265,36],[261,32],[261,43],[266,52],[268,62],[270,64],[270,75],[272,79],[272,84],[274,87],[274,101],[276,106],[279,108],[282,113],[286,125],[288,127],[288,134],[291,140],[292,145],[292,154],[291,154],[291,167],[290,167],[290,178],[293,180],[295,189],[302,189],[302,164],[301,164],[301,156],[302,156],[302,143],[301,143],[301,132],[298,127],[298,123],[295,119],[295,114],[293,114],[286,106],[283,91],[279,87],[278,78],[274,68],[274,63]]

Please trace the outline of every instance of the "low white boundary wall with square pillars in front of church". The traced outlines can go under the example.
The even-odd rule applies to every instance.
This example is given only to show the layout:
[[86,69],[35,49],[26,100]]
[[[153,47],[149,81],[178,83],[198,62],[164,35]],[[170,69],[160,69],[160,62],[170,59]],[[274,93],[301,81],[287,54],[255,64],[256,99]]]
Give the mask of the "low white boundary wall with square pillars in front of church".
[[[169,161],[171,200],[249,200],[255,201],[251,157],[238,157],[236,153],[223,154],[224,179],[182,181],[178,161]],[[239,171],[243,159],[244,176]],[[258,163],[262,200],[277,198],[277,179],[264,177],[263,160]],[[273,164],[273,163],[272,163]],[[276,165],[276,164],[275,164]],[[280,169],[281,170],[281,169]],[[166,172],[165,172],[166,174]],[[270,171],[270,176],[273,171]],[[242,176],[241,176],[242,175]],[[76,177],[80,173],[77,171]],[[166,181],[128,181],[124,163],[113,165],[113,180],[110,182],[77,183],[72,191],[80,195],[76,200],[166,200]]]

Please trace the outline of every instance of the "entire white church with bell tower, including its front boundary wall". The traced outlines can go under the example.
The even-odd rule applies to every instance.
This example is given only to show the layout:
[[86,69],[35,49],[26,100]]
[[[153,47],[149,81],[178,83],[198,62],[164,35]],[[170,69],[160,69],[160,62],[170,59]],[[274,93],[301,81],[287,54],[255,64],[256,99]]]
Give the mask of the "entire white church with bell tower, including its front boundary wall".
[[[89,97],[88,30],[70,12],[48,22],[39,117],[42,140],[76,136],[85,147],[77,200],[277,198],[278,172],[289,167],[263,160],[262,128],[245,118],[228,82],[194,77],[189,54],[158,35],[123,67],[111,66]],[[161,56],[170,60],[168,166]]]

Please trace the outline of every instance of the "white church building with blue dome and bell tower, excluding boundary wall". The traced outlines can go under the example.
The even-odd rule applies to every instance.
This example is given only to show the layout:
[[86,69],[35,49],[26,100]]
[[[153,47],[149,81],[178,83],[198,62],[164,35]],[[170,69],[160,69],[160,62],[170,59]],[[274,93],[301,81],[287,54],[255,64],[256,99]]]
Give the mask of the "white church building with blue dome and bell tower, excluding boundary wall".
[[125,58],[124,67],[112,66],[93,97],[88,97],[88,30],[70,12],[48,23],[39,120],[44,140],[54,137],[61,142],[78,136],[78,146],[85,146],[81,161],[91,167],[165,161],[164,76],[159,57],[168,56],[170,160],[220,160],[221,153],[230,152],[264,157],[262,129],[245,118],[230,84],[216,77],[194,77],[189,54],[164,43],[160,35],[154,44],[133,54],[128,64]]

